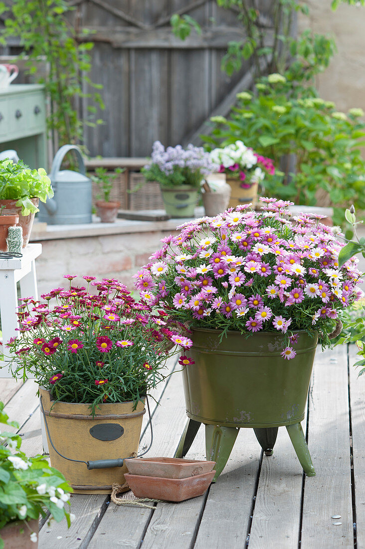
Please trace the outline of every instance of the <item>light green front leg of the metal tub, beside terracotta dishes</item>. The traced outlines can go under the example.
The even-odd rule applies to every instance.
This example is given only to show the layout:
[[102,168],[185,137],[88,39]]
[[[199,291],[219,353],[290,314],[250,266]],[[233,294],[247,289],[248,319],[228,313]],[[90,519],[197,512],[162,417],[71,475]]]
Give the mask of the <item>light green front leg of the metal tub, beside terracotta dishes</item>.
[[213,482],[217,480],[226,465],[238,432],[239,428],[236,427],[205,425],[206,459],[216,462]]

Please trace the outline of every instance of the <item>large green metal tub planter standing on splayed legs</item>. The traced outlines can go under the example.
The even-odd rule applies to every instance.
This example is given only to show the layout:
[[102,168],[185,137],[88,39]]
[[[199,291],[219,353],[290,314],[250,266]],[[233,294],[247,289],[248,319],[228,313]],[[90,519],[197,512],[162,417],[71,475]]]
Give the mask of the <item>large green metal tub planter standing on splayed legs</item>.
[[284,336],[259,332],[249,337],[228,331],[192,328],[189,349],[195,364],[183,370],[189,422],[176,457],[186,455],[201,423],[205,424],[207,460],[222,472],[240,428],[251,427],[266,455],[272,455],[278,427],[287,427],[297,457],[308,477],[314,476],[301,427],[307,403],[317,335],[299,334],[296,356],[280,356]]

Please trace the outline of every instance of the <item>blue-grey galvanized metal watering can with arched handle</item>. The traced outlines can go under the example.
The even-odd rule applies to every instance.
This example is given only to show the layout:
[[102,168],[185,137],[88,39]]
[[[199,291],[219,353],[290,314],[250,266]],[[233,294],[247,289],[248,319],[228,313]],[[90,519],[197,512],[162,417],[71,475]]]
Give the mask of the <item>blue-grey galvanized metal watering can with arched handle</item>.
[[[76,153],[78,172],[60,171],[62,160],[70,150]],[[54,198],[47,198],[45,204],[40,204],[38,221],[45,221],[49,225],[91,223],[92,182],[85,175],[85,164],[81,151],[76,145],[64,145],[58,150],[49,177]]]

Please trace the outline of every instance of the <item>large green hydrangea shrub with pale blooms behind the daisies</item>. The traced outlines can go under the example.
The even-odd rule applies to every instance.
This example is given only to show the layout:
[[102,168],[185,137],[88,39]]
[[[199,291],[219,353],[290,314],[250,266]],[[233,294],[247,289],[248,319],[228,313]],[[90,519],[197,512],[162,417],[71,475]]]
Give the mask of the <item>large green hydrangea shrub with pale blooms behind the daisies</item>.
[[228,119],[213,122],[211,135],[203,136],[207,148],[241,139],[257,153],[272,158],[275,166],[295,155],[295,173],[286,170],[266,176],[267,195],[316,205],[316,193],[323,189],[338,208],[336,223],[343,221],[344,204],[365,209],[361,109],[340,113],[334,103],[315,97],[313,90],[293,88],[293,82],[279,74],[262,77],[255,93],[239,93],[237,98]]

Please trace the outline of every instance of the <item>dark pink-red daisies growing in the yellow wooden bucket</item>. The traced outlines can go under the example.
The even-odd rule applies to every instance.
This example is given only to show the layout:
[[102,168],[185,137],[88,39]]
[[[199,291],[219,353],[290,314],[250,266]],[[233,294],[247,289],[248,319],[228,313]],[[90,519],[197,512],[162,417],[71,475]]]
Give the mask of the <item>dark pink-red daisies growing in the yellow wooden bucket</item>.
[[[153,276],[161,279],[166,269],[164,262],[156,261]],[[85,276],[87,288],[72,286],[76,275],[65,278],[70,287],[43,294],[45,302],[21,300],[21,337],[7,344],[14,371],[26,368],[52,389],[55,400],[94,407],[106,400],[141,399],[164,379],[160,370],[171,349],[179,354],[192,345],[186,330],[164,310],[151,309],[149,278],[147,289],[141,285],[143,301],[134,300],[113,278]],[[158,288],[164,294],[161,282]]]

